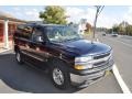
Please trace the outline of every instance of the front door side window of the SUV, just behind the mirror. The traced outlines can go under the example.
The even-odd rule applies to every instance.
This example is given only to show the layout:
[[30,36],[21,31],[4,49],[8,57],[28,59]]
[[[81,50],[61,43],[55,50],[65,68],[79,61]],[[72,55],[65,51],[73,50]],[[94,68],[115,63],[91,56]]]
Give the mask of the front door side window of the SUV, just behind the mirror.
[[32,40],[33,42],[37,42],[37,38],[38,38],[40,36],[41,36],[41,38],[43,38],[42,31],[41,31],[38,28],[35,28],[35,29],[33,30],[31,40]]

